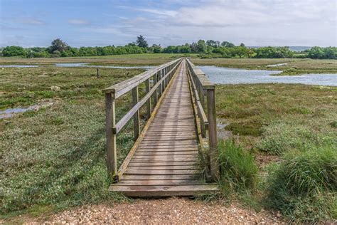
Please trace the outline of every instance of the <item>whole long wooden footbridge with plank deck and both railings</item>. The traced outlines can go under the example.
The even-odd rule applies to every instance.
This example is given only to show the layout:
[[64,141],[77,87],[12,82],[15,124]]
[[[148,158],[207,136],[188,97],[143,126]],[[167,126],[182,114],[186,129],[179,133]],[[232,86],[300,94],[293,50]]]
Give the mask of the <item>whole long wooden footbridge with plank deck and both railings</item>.
[[[139,100],[141,85],[145,94]],[[129,91],[133,107],[116,122],[115,100]],[[191,61],[179,58],[112,85],[105,89],[105,100],[110,191],[161,197],[217,190],[212,183],[218,176],[215,86]],[[118,169],[118,133],[131,119],[136,142]]]

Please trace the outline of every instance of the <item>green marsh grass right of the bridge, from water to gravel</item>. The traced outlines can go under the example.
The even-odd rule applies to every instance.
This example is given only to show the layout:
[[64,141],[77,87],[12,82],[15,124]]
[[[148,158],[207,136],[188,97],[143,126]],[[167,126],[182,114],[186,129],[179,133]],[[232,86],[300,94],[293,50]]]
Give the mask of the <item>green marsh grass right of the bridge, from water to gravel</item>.
[[[337,88],[219,85],[216,107],[236,140],[220,142],[225,155],[220,164],[231,162],[223,169],[230,178],[220,182],[225,197],[235,195],[254,209],[277,209],[296,223],[336,219]],[[242,185],[240,177],[250,181],[250,172],[257,184]],[[246,188],[238,192],[237,187]]]

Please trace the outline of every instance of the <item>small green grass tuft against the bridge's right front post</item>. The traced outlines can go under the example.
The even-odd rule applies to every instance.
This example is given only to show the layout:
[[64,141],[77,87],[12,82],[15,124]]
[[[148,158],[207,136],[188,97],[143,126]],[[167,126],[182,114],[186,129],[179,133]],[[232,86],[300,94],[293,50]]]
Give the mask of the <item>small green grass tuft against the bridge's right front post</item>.
[[218,144],[220,184],[223,190],[241,191],[255,189],[257,165],[254,158],[233,140],[221,140]]

